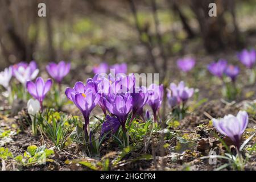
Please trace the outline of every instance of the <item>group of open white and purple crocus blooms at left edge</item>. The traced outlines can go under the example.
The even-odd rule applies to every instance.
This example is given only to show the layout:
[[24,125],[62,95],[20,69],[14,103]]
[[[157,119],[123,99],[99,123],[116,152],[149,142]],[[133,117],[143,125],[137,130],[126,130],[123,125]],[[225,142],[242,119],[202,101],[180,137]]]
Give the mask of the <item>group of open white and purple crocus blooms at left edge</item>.
[[[69,73],[70,63],[60,61],[60,63],[49,63],[46,67],[48,74],[60,84],[63,78]],[[0,78],[1,84],[7,89],[9,88],[9,82],[11,77],[15,77],[22,85],[26,86],[28,93],[31,94],[36,100],[40,102],[41,108],[43,106],[44,97],[51,89],[52,80],[48,78],[44,82],[42,77],[38,77],[39,69],[35,61],[30,63],[20,62],[18,64],[11,65],[3,72],[3,78]],[[35,82],[32,82],[36,78]]]

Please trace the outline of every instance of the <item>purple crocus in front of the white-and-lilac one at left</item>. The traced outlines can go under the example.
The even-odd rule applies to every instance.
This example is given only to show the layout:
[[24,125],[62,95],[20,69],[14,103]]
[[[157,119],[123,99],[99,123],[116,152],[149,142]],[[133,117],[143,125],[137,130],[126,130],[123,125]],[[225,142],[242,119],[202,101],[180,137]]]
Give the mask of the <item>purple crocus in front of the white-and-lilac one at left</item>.
[[46,93],[51,89],[52,80],[49,78],[44,82],[42,77],[36,78],[35,82],[27,81],[27,91],[40,102],[41,109],[43,108],[43,100],[46,97]]

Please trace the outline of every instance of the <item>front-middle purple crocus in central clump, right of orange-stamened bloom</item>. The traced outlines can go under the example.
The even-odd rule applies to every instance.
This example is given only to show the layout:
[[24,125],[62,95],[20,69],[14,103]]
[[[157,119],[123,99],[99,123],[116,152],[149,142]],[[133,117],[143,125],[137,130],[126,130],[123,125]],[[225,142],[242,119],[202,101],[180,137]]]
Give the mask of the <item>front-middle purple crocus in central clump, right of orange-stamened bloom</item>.
[[109,113],[115,115],[121,123],[122,130],[126,132],[125,123],[128,115],[133,109],[133,97],[129,93],[126,94],[108,94],[104,97],[103,103]]

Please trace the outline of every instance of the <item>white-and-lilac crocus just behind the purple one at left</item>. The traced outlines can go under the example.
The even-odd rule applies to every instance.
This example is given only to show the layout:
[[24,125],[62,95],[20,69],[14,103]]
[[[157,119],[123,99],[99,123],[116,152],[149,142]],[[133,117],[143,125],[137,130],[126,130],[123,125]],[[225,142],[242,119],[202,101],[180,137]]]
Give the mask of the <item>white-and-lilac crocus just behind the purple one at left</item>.
[[36,68],[35,61],[31,61],[30,64],[22,62],[13,65],[13,75],[23,85],[26,85],[27,81],[34,80],[38,73],[39,69]]

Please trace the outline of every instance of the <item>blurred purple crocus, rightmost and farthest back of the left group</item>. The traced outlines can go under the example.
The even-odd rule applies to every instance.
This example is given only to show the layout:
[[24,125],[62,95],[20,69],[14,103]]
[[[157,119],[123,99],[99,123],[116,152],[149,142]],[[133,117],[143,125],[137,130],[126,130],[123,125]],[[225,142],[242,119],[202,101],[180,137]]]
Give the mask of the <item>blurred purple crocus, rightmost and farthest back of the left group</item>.
[[69,73],[70,63],[65,63],[64,61],[60,61],[58,64],[49,63],[46,66],[46,70],[49,75],[60,84],[63,78]]

